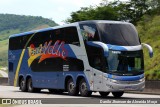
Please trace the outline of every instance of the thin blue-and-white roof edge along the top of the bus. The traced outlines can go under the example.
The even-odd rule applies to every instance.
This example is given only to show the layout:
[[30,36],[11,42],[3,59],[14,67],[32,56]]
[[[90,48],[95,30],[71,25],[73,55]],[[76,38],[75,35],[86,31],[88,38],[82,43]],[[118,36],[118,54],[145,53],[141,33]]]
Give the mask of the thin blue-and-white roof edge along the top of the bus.
[[29,34],[33,34],[33,33],[36,33],[36,32],[49,31],[49,30],[68,27],[68,26],[76,26],[78,24],[84,24],[84,23],[130,24],[128,22],[112,21],[112,20],[86,20],[86,21],[79,21],[79,22],[75,22],[75,23],[65,24],[65,25],[61,25],[61,26],[54,26],[54,27],[44,28],[44,29],[40,29],[40,30],[33,30],[33,31],[24,32],[24,33],[13,34],[13,35],[9,36],[9,38],[29,35]]

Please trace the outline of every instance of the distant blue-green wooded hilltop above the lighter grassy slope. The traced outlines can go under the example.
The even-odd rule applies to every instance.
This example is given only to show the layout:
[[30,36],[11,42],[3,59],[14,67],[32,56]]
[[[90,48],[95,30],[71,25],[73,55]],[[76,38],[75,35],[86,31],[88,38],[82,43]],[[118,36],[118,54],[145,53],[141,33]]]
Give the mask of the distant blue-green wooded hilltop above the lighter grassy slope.
[[47,24],[49,26],[57,25],[50,19],[44,19],[42,17],[34,16],[20,16],[13,14],[0,14],[0,31],[10,29],[20,29],[21,32],[32,30],[37,25]]

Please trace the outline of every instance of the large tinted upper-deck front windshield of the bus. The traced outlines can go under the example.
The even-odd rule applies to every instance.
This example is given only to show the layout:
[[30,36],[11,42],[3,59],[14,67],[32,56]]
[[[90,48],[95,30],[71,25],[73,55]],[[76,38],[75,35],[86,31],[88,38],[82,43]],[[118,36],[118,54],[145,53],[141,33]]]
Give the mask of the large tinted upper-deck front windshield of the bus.
[[102,42],[112,45],[140,45],[138,34],[131,24],[99,23]]

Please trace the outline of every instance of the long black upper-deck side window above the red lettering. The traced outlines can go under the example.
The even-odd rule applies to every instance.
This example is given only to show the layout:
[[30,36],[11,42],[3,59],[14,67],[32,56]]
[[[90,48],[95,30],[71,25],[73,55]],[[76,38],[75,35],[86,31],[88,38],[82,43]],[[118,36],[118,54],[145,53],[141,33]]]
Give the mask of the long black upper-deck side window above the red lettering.
[[[31,44],[34,44],[34,47],[39,47],[41,44],[44,45],[50,40],[52,40],[52,45],[57,40],[60,40],[64,41],[65,44],[80,46],[79,36],[77,28],[75,26],[37,32],[30,40],[29,38],[31,37],[31,35],[33,34],[21,35],[10,38],[9,50],[24,49],[30,47]],[[28,44],[25,47],[27,42]]]

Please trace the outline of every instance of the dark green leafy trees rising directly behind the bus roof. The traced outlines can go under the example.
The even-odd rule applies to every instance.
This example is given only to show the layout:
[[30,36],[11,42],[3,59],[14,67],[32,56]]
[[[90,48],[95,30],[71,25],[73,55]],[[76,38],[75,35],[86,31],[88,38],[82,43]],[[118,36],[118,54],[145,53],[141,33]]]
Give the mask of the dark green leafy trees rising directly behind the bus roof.
[[130,0],[121,2],[119,0],[108,2],[103,0],[99,6],[81,8],[72,12],[71,18],[66,22],[76,22],[82,20],[119,20],[136,24],[141,17],[148,13],[148,0]]

